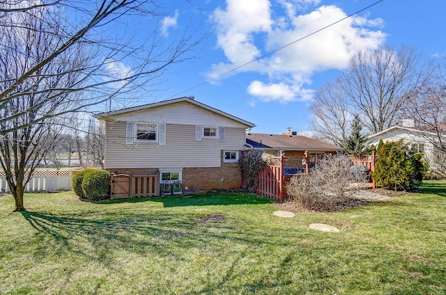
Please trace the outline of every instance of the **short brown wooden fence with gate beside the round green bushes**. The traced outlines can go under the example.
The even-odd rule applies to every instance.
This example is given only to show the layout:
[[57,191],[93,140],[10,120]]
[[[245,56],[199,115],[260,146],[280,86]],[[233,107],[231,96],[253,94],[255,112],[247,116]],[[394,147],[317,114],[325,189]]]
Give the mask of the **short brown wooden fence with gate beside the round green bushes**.
[[110,175],[110,198],[144,198],[160,196],[160,175]]

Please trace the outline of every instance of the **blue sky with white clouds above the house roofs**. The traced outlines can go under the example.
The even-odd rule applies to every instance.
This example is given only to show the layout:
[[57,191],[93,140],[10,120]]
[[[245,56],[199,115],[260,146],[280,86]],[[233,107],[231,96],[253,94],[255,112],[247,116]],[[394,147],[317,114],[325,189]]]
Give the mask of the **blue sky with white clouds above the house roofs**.
[[164,2],[160,38],[174,40],[188,28],[206,39],[137,104],[193,95],[254,123],[254,133],[305,134],[314,93],[335,81],[358,50],[405,45],[427,59],[446,54],[443,0]]

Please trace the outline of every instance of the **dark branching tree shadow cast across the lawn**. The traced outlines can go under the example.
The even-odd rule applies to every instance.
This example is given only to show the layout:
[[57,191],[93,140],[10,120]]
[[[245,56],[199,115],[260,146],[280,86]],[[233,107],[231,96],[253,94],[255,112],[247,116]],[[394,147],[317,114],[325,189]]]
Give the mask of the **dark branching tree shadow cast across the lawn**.
[[[53,214],[21,212],[36,230],[33,255],[69,253],[89,260],[110,264],[107,259],[116,249],[138,255],[150,252],[160,256],[176,256],[178,249],[201,248],[208,243],[233,240],[247,245],[270,244],[263,236],[240,232],[231,223],[199,223],[203,212],[82,212]],[[208,230],[212,228],[213,230]],[[277,233],[279,234],[279,233]]]

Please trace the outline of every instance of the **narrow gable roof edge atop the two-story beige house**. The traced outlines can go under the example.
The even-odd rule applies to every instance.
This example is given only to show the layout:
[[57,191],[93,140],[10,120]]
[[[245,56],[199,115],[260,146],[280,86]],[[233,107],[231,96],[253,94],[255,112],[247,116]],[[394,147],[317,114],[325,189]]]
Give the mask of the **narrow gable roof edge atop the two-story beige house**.
[[252,122],[248,122],[246,120],[240,119],[236,117],[235,115],[231,115],[229,113],[226,113],[224,111],[220,111],[219,109],[215,109],[212,106],[208,106],[207,104],[203,104],[201,102],[197,102],[194,100],[194,97],[179,97],[174,99],[167,99],[163,100],[162,102],[153,102],[151,104],[144,104],[141,106],[133,106],[126,109],[120,109],[117,111],[109,111],[104,113],[96,113],[94,117],[98,120],[106,120],[107,118],[113,118],[113,117],[119,117],[120,115],[124,115],[126,113],[136,113],[138,111],[146,111],[150,109],[154,109],[160,106],[167,106],[171,104],[178,104],[180,102],[185,102],[187,104],[191,104],[192,106],[197,106],[201,109],[204,109],[206,111],[210,111],[211,113],[215,113],[217,115],[221,115],[226,119],[236,121],[242,125],[245,125],[246,127],[255,127],[256,125]]

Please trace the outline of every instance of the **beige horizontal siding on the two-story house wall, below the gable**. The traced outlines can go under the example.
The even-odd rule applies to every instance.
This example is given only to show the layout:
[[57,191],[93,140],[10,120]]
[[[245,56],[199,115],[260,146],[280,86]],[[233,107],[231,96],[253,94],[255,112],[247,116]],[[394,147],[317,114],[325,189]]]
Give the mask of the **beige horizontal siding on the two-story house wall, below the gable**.
[[225,127],[219,138],[195,140],[195,125],[166,125],[166,145],[133,143],[125,145],[125,122],[107,122],[105,167],[112,168],[194,168],[220,167],[222,150],[243,150],[245,129]]

